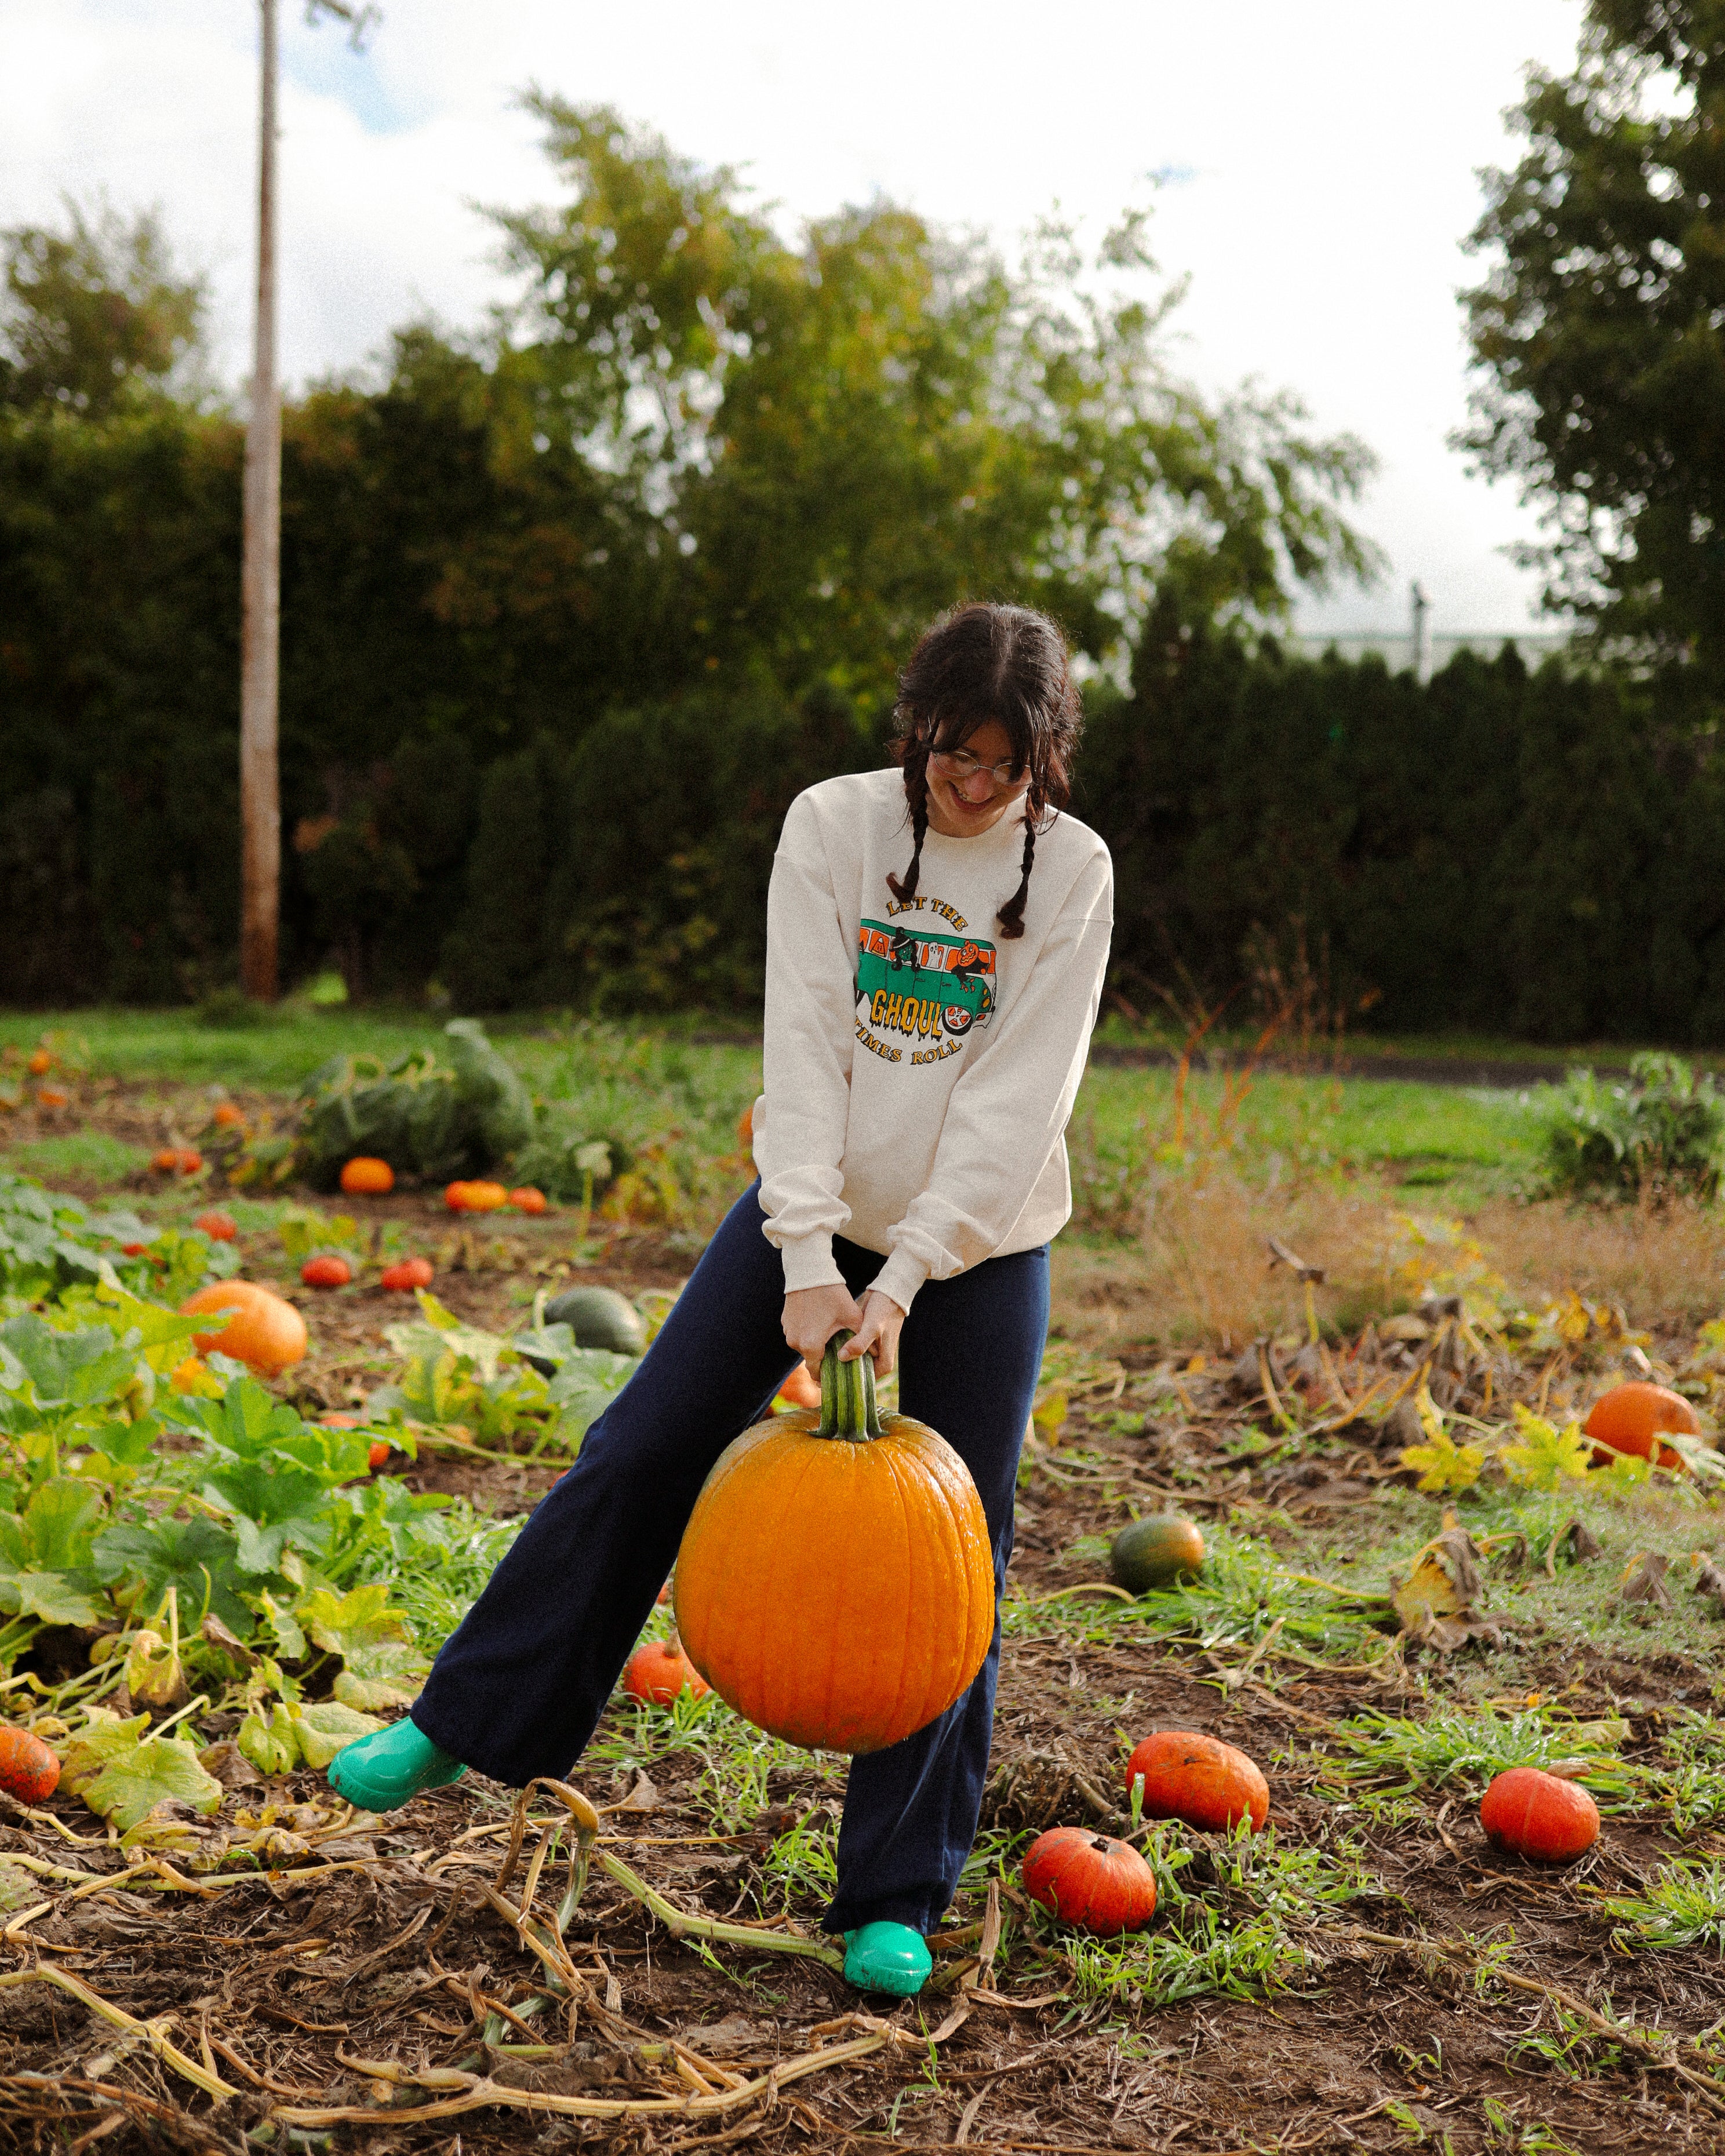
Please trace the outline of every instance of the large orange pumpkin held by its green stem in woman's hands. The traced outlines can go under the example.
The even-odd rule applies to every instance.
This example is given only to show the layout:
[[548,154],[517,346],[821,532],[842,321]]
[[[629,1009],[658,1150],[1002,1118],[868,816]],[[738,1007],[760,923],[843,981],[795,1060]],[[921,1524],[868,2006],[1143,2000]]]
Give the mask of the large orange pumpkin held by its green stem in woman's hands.
[[970,1470],[882,1416],[869,1356],[822,1365],[822,1410],[718,1455],[677,1552],[684,1654],[770,1736],[871,1753],[970,1686],[994,1636],[994,1554]]

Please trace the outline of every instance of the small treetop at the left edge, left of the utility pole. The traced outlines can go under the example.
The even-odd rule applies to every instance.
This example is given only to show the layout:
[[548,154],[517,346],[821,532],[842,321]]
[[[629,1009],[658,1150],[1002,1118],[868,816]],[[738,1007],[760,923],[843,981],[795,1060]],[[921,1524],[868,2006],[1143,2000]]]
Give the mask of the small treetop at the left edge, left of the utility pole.
[[209,289],[175,272],[153,209],[67,198],[63,229],[0,233],[0,403],[108,418],[196,362]]

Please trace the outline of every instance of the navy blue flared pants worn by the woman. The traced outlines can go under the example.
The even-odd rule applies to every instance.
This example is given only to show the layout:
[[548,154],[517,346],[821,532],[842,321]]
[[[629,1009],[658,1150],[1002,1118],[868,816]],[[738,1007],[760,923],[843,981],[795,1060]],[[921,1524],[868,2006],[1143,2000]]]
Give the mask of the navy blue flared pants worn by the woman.
[[[832,1255],[854,1296],[882,1266],[875,1250],[843,1240]],[[783,1307],[785,1274],[761,1233],[755,1186],[438,1656],[414,1705],[433,1744],[515,1785],[571,1770],[675,1563],[707,1470],[765,1414],[796,1365]],[[899,1406],[938,1429],[977,1479],[996,1598],[1046,1330],[1044,1246],[929,1281],[899,1339]],[[970,1690],[927,1729],[852,1761],[830,1932],[875,1919],[919,1932],[938,1923],[977,1833],[998,1662],[996,1617]]]

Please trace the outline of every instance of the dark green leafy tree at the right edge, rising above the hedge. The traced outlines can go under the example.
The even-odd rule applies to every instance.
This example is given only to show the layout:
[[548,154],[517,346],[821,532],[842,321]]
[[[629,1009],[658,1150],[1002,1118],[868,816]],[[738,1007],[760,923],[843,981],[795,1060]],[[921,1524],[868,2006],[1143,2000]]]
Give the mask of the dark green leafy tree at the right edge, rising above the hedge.
[[1544,505],[1546,602],[1725,666],[1725,0],[1591,0],[1486,172],[1462,438]]

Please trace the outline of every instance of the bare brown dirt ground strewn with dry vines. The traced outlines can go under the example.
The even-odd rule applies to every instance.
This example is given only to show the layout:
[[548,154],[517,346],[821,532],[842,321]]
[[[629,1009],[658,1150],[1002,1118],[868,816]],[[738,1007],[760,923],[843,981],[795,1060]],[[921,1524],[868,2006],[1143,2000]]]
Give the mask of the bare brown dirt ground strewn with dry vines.
[[[558,1279],[569,1235],[567,1220],[548,1220],[509,1229],[505,1246],[474,1233],[464,1250],[418,1194],[382,1212],[442,1240],[438,1294],[485,1324],[520,1315],[535,1279]],[[257,1242],[250,1255],[263,1253]],[[638,1294],[673,1289],[688,1266],[686,1246],[632,1235],[582,1279]],[[345,1406],[375,1382],[399,1298],[300,1300],[315,1352],[298,1397],[306,1410]],[[1059,1595],[1100,1580],[1102,1565],[1074,1563],[1074,1546],[1113,1533],[1128,1509],[1177,1496],[1199,1522],[1244,1520],[1289,1563],[1302,1561],[1302,1537],[1346,1542],[1350,1522],[1371,1518],[1395,1473],[1374,1425],[1343,1421],[1309,1460],[1266,1466],[1240,1451],[1261,1419],[1261,1399],[1227,1371],[1190,1376],[1173,1397],[1167,1365],[1128,1354],[1074,1391],[1057,1438],[1033,1442],[985,1828],[1128,1833],[1121,1733],[1192,1727],[1266,1766],[1281,1843],[1328,1848],[1337,1805],[1317,1783],[1339,1723],[1466,1690],[1466,1647],[1410,1645],[1350,1671],[1242,1667],[1201,1636],[1082,1636]],[[522,1511],[556,1470],[427,1457],[405,1473],[414,1488]],[[1529,1692],[1561,1686],[1576,1716],[1626,1718],[1628,1759],[1719,1682],[1716,1658],[1656,1634],[1639,1651],[1535,1634],[1505,1667]],[[224,1733],[216,1716],[201,1727]],[[41,1906],[15,1908],[0,1932],[0,2141],[233,2156],[479,2156],[580,2141],[1177,2156],[1725,2147],[1725,2076],[1706,2048],[1725,2027],[1725,1962],[1706,1949],[1626,1955],[1593,1910],[1600,1893],[1641,1889],[1678,1848],[1725,1854],[1714,1833],[1680,1841],[1609,1815],[1581,1865],[1546,1871],[1492,1850],[1471,1802],[1434,1798],[1391,1820],[1354,1811],[1346,1824],[1363,1837],[1367,1884],[1276,1915],[1287,1958],[1266,1996],[1210,1990],[1156,2005],[1130,1981],[1089,1981],[1070,1934],[1031,1910],[1009,1865],[992,1897],[979,1887],[953,1906],[932,1988],[888,2005],[860,2001],[809,1955],[677,1938],[602,1867],[621,1858],[684,1915],[759,1923],[759,1908],[776,1906],[774,1843],[800,1822],[830,1824],[843,1761],[796,1755],[774,1768],[748,1826],[716,1833],[707,1738],[677,1746],[660,1729],[636,1766],[638,1727],[636,1710],[615,1708],[597,1746],[606,1764],[574,1774],[615,1809],[561,1945],[550,1930],[561,1858],[522,1919],[537,1835],[500,1889],[515,1794],[479,1777],[371,1820],[334,1805],[321,1777],[265,1792],[235,1755],[231,1802],[267,1798],[300,1843],[276,1869],[213,1887],[166,1858],[99,1887],[129,1858],[80,1802],[56,1796],[26,1813],[0,1800],[0,1865],[30,1858],[41,1880]],[[565,1815],[546,1789],[530,1813]],[[1182,1841],[1184,1876],[1223,1936],[1264,1915],[1251,1871],[1242,1882],[1220,1841],[1188,1830]],[[794,1893],[781,1932],[813,1940],[817,1923],[819,1895]],[[1535,2037],[1548,2040],[1544,2055]],[[627,2102],[651,2109],[580,2115]]]

